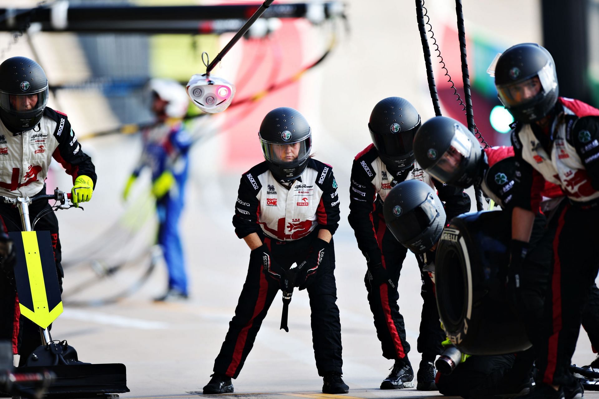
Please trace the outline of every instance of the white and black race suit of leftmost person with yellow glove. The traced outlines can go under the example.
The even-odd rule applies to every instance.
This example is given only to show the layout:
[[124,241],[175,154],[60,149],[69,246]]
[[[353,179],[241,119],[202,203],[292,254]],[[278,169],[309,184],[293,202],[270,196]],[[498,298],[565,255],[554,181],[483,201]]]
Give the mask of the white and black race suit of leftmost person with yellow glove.
[[[71,129],[65,114],[46,107],[40,123],[32,130],[13,134],[0,121],[0,196],[35,196],[44,189],[48,167],[55,159],[72,176],[73,182],[80,175],[89,176],[96,185],[96,172],[92,159],[87,156]],[[44,193],[45,194],[45,193]],[[58,219],[47,201],[34,202],[29,206],[31,223],[38,214],[44,212],[34,230],[50,232],[56,271],[62,287],[62,266],[60,264],[60,238]],[[19,211],[11,205],[0,202],[0,216],[8,232],[19,232],[22,223]],[[0,279],[0,340],[13,342],[13,351],[18,351],[23,363],[29,353],[40,345],[40,331],[28,319],[20,317],[13,287]]]

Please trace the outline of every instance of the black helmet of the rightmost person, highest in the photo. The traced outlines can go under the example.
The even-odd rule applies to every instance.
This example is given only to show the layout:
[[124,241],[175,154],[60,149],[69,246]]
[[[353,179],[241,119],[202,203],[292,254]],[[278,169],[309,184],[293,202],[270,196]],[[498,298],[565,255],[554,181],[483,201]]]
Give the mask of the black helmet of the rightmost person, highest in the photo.
[[497,60],[494,73],[497,96],[516,121],[539,120],[549,114],[558,100],[555,62],[539,44],[522,43],[508,48]]

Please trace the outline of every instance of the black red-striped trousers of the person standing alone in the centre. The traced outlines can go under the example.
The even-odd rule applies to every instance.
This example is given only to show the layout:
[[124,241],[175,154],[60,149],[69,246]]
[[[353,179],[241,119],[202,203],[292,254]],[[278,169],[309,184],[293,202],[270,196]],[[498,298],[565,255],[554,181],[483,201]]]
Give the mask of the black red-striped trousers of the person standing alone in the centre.
[[[264,243],[270,247],[274,262],[288,269],[295,262],[305,259],[312,240],[317,232],[294,241],[279,241],[264,238]],[[337,286],[335,285],[335,252],[331,240],[329,254],[319,266],[313,282],[308,285],[310,297],[312,344],[316,368],[320,376],[327,373],[342,373],[341,366],[341,323],[337,301]],[[328,261],[327,261],[328,260]],[[260,330],[262,320],[267,315],[268,308],[277,293],[279,282],[265,276],[262,264],[250,261],[246,282],[241,290],[235,316],[229,322],[229,331],[220,348],[220,353],[214,361],[214,372],[237,378],[243,364],[249,355],[256,334]],[[294,291],[294,296],[298,290]],[[290,307],[293,306],[293,301]]]

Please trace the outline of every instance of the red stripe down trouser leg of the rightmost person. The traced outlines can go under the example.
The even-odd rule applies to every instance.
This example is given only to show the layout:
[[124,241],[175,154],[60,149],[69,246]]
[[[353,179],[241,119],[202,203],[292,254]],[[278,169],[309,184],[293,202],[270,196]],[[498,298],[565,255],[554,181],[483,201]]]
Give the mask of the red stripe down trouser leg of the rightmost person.
[[559,331],[562,327],[562,309],[561,309],[561,262],[559,261],[559,234],[564,228],[565,212],[570,209],[566,206],[562,214],[559,215],[558,229],[553,239],[553,276],[551,279],[551,297],[552,297],[552,319],[553,331],[549,337],[549,346],[547,348],[547,368],[543,375],[543,382],[552,384],[553,374],[557,366]]

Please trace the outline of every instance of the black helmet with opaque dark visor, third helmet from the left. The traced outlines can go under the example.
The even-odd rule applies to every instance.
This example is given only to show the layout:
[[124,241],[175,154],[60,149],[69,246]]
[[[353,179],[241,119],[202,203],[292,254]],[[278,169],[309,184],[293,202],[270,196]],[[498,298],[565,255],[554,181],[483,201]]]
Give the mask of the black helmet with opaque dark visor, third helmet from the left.
[[414,165],[412,141],[419,127],[420,115],[406,99],[388,97],[374,106],[368,130],[389,169],[399,171]]

